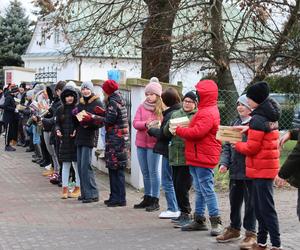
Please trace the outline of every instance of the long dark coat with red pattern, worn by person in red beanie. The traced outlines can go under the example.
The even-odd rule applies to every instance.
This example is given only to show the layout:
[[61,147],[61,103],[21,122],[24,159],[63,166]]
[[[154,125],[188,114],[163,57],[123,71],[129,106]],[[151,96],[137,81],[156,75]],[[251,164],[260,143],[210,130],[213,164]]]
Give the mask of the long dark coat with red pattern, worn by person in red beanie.
[[125,168],[128,161],[129,125],[125,101],[119,91],[108,97],[104,125],[106,167]]

